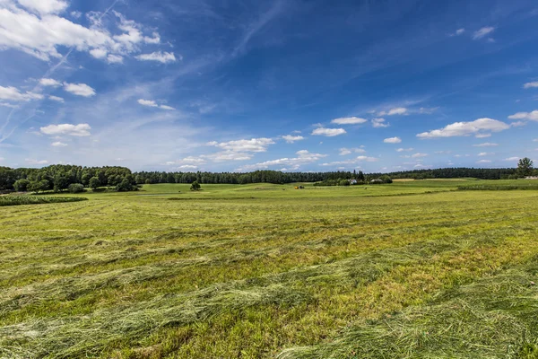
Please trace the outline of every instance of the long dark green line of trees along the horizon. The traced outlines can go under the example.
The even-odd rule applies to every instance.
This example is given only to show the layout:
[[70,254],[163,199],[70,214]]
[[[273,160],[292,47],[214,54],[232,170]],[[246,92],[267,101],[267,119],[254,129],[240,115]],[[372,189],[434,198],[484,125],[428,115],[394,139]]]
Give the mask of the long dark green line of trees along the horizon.
[[436,170],[397,171],[390,173],[369,173],[362,171],[327,172],[281,172],[253,171],[238,172],[132,172],[126,167],[82,167],[55,164],[40,169],[0,167],[0,191],[82,191],[84,188],[110,188],[117,191],[137,189],[137,185],[153,183],[193,183],[199,184],[247,184],[247,183],[294,183],[358,180],[369,182],[376,179],[450,179],[477,178],[482,180],[502,180],[538,174],[529,159],[521,159],[517,168],[475,169],[444,168]]

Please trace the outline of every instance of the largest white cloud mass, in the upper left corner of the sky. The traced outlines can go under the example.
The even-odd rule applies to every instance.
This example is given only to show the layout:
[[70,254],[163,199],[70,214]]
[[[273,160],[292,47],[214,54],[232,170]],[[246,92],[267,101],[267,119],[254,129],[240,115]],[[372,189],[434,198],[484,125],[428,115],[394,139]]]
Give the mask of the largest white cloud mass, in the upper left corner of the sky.
[[[0,1],[0,48],[18,49],[44,61],[62,57],[59,48],[75,48],[117,63],[121,56],[139,52],[142,44],[161,41],[157,32],[145,36],[140,24],[117,12],[113,12],[117,27],[105,29],[100,21],[103,13],[87,14],[90,27],[60,16],[68,5],[64,0],[19,0],[19,4]],[[71,13],[72,19],[79,17],[80,13]],[[113,56],[106,57],[107,54]]]

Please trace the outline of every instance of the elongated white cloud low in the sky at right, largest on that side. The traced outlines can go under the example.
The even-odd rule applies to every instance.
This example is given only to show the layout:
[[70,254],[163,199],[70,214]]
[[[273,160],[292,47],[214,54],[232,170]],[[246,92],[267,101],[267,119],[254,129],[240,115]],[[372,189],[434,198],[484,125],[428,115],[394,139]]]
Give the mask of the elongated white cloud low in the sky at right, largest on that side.
[[497,119],[478,118],[471,122],[455,122],[444,128],[418,134],[419,138],[438,138],[452,136],[469,136],[484,132],[499,132],[508,129],[509,126]]

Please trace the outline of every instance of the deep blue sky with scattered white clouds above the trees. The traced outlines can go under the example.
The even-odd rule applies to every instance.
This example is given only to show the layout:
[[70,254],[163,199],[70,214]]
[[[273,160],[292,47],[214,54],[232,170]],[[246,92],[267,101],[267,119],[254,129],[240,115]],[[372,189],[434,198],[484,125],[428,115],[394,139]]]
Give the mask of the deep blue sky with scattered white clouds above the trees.
[[531,0],[0,0],[0,165],[515,167],[537,59]]

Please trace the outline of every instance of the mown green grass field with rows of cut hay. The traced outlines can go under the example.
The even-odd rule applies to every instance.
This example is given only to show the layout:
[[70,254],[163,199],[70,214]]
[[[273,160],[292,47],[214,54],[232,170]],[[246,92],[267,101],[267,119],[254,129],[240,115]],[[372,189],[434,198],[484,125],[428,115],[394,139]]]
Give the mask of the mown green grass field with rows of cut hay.
[[465,183],[1,207],[0,358],[538,358],[538,191]]

